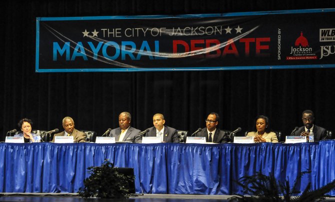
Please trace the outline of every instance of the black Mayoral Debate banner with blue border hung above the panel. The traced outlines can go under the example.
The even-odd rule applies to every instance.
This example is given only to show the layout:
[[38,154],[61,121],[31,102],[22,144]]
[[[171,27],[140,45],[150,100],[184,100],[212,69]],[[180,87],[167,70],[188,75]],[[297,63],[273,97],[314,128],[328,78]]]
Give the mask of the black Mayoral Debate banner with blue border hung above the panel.
[[36,72],[334,67],[334,11],[38,17]]

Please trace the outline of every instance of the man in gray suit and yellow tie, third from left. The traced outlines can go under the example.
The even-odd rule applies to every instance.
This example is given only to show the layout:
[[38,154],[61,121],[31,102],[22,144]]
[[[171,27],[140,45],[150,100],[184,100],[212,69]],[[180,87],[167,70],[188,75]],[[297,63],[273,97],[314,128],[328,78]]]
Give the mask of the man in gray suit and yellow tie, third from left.
[[118,115],[119,127],[110,130],[109,136],[115,137],[115,141],[131,141],[134,142],[135,136],[140,132],[139,129],[130,126],[131,115],[129,112],[123,111]]

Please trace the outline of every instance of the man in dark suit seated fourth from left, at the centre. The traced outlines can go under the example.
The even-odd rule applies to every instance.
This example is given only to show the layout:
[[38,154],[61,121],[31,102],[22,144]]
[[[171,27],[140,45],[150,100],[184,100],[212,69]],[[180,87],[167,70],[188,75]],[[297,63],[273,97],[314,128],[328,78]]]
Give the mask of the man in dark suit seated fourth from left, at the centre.
[[[177,130],[173,127],[164,125],[164,115],[156,113],[152,118],[153,127],[148,128],[149,131],[144,136],[160,136],[161,142],[179,142]],[[142,142],[142,136],[136,137],[136,142]]]

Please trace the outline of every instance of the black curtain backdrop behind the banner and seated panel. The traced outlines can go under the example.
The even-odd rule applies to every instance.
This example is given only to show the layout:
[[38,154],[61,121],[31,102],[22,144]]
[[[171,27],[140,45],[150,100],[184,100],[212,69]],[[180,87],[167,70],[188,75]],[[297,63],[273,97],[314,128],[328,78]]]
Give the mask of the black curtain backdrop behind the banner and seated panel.
[[[219,128],[254,129],[258,114],[270,127],[289,134],[311,109],[315,123],[334,130],[335,68],[178,72],[35,73],[36,17],[194,14],[282,9],[331,8],[334,0],[3,0],[0,1],[0,133],[19,129],[20,118],[33,128],[62,129],[71,116],[77,129],[101,135],[118,126],[129,111],[132,126],[165,124],[193,132],[207,114],[219,113]],[[326,14],[326,13],[325,13]],[[287,22],[289,23],[289,22]],[[335,25],[335,24],[334,24]],[[334,58],[335,60],[335,58]],[[253,65],[253,64],[250,64]]]

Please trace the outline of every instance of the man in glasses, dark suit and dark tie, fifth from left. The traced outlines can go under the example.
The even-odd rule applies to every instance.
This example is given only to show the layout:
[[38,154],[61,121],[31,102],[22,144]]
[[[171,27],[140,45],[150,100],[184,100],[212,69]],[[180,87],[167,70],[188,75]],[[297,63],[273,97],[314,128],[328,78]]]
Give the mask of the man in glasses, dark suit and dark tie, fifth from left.
[[209,113],[205,120],[206,127],[202,128],[201,131],[197,132],[195,136],[206,137],[207,142],[224,143],[229,142],[228,134],[219,128],[216,128],[218,124],[219,116],[215,112]]

